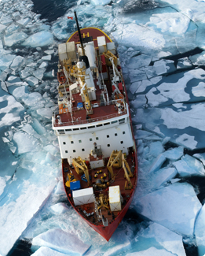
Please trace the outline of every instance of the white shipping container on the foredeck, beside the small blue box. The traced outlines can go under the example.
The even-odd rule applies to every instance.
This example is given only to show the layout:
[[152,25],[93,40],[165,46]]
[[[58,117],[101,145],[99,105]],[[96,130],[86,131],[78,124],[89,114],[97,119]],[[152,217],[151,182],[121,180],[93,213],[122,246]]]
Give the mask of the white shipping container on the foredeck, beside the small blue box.
[[75,206],[82,206],[86,203],[94,202],[93,187],[72,191],[72,198]]

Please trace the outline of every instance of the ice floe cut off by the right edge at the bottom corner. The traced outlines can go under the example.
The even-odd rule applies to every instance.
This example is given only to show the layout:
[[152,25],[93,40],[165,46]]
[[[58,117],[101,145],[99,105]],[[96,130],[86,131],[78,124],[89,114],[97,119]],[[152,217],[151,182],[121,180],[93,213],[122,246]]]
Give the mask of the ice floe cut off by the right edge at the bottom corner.
[[199,215],[196,218],[195,236],[196,236],[196,243],[198,247],[199,256],[204,256],[205,254],[205,205],[203,205]]

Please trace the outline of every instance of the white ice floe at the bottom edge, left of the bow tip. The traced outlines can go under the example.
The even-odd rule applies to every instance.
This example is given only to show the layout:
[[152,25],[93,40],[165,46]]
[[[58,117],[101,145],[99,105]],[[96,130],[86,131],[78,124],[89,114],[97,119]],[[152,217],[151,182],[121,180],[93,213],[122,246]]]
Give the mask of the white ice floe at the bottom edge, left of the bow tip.
[[83,255],[90,246],[82,243],[82,240],[75,234],[64,232],[60,228],[50,229],[32,240],[32,246],[49,247],[64,254]]

